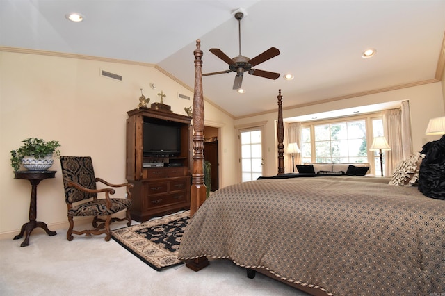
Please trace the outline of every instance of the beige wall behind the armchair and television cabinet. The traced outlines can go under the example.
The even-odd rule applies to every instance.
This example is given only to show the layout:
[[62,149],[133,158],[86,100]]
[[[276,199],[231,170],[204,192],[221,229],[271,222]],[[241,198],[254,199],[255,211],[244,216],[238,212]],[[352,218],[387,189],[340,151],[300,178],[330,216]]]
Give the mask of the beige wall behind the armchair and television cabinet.
[[[122,75],[115,81],[99,75],[100,69]],[[191,60],[193,72],[193,59]],[[15,180],[10,167],[10,150],[20,141],[35,137],[58,140],[63,155],[92,156],[96,175],[122,183],[125,180],[125,120],[127,111],[138,106],[140,88],[149,104],[159,101],[174,113],[186,115],[193,92],[162,74],[151,65],[130,65],[79,58],[0,51],[0,235],[13,236],[28,221],[31,185]],[[156,84],[156,90],[149,83]],[[179,99],[186,94],[191,100]],[[205,104],[206,121],[220,127],[222,154],[234,159],[233,119]],[[221,163],[221,184],[233,183],[235,167]],[[67,224],[66,204],[60,174],[38,186],[38,220],[51,229]],[[118,196],[119,192],[116,193]]]

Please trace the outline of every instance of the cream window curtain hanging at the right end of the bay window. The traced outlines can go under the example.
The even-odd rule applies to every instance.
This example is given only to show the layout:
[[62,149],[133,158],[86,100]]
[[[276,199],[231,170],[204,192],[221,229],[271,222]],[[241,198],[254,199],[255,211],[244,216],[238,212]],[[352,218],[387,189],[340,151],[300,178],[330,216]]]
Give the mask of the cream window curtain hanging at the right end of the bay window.
[[385,151],[385,176],[391,176],[398,163],[410,156],[410,105],[403,101],[401,108],[382,112],[383,129],[390,151]]

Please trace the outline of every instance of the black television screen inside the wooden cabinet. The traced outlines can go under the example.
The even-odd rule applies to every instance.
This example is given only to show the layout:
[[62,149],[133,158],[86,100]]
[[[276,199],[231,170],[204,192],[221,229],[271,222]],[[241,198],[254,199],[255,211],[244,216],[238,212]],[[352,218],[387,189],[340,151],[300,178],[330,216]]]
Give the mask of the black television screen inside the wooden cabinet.
[[181,128],[178,125],[145,122],[143,137],[144,156],[167,157],[181,154]]

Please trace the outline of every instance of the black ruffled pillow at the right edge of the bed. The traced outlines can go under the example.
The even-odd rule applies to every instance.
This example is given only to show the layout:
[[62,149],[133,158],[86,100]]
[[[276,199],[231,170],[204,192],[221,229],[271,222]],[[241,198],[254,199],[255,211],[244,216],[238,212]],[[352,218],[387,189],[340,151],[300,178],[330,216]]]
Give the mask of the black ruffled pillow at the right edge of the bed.
[[419,170],[419,191],[426,197],[445,200],[445,135],[422,148],[425,157]]

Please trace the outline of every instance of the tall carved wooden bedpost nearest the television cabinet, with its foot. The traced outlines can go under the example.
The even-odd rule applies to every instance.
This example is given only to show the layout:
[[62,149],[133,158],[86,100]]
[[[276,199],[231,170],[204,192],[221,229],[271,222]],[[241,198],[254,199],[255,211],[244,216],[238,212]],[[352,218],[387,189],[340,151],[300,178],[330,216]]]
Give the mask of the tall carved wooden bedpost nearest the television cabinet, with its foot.
[[[195,54],[195,93],[193,95],[193,172],[191,186],[190,216],[192,217],[206,200],[207,188],[204,185],[204,97],[202,95],[202,50],[201,40],[196,40]],[[202,270],[209,265],[206,257],[188,261],[191,270]]]

